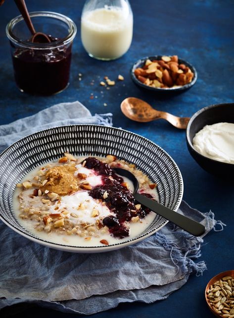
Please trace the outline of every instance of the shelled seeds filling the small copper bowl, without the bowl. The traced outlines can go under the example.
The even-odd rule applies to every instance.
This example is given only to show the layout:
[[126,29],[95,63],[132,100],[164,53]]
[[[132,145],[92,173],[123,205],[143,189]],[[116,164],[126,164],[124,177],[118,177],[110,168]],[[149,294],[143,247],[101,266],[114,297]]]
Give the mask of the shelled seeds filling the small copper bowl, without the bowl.
[[209,286],[208,304],[223,318],[234,318],[234,277],[224,276]]

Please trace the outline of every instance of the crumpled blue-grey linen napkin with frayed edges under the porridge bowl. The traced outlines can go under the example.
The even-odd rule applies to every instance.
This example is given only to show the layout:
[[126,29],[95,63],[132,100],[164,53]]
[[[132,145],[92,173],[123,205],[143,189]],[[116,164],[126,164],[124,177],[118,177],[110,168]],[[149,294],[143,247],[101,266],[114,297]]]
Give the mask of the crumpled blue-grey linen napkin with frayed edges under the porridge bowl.
[[[33,132],[68,124],[112,125],[112,114],[94,115],[79,102],[62,103],[34,116],[0,126],[0,151]],[[212,212],[201,213],[182,201],[179,212],[211,229],[224,224]],[[202,237],[168,223],[140,243],[120,250],[75,254],[49,249],[17,234],[0,221],[0,309],[8,314],[35,304],[66,313],[94,314],[121,302],[151,303],[201,274]],[[9,267],[9,264],[11,266]],[[24,305],[23,305],[24,304]]]

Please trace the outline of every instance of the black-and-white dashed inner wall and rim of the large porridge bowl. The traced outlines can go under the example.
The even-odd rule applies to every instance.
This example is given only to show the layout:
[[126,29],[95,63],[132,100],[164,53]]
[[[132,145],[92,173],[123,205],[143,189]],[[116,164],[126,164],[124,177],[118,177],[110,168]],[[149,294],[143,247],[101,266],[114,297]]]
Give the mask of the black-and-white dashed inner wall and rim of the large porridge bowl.
[[[15,185],[34,168],[57,160],[64,152],[75,156],[112,154],[118,159],[134,163],[152,182],[157,183],[160,203],[174,211],[179,208],[183,196],[180,170],[173,159],[152,141],[122,129],[98,125],[51,128],[20,139],[0,155],[0,218],[29,239],[36,238],[42,244],[47,243],[17,221],[12,207]],[[135,240],[148,236],[166,223],[164,218],[157,215],[143,233],[129,242],[134,243]],[[120,244],[122,243],[117,241],[113,245]],[[56,243],[50,243],[50,246],[59,248]],[[77,248],[89,249],[79,246]]]

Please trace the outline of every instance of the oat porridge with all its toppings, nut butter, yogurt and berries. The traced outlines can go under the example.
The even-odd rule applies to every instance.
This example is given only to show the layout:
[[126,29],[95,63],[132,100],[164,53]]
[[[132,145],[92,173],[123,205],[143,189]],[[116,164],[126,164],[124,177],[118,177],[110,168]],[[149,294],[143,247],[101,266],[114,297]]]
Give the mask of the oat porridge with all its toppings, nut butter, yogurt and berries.
[[139,192],[158,200],[156,184],[135,165],[115,156],[79,157],[69,153],[41,166],[17,184],[14,210],[37,237],[72,246],[103,246],[143,232],[155,213],[132,195],[133,184],[112,168],[131,171]]

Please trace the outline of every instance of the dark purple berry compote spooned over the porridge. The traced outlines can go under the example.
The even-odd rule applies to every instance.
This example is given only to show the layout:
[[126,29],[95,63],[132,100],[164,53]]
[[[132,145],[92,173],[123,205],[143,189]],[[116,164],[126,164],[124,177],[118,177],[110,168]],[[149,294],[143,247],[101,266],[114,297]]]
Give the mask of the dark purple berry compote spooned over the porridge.
[[[150,210],[144,206],[141,206],[139,210],[136,209],[135,205],[138,202],[124,186],[123,178],[117,176],[106,163],[93,157],[89,157],[84,161],[86,161],[86,168],[94,169],[98,175],[102,176],[103,184],[95,186],[90,191],[90,195],[94,199],[104,200],[110,211],[113,212],[113,214],[102,220],[103,225],[109,228],[110,233],[114,237],[123,238],[129,236],[129,227],[126,226],[126,221],[131,221],[132,217],[136,216],[143,219]],[[152,198],[148,193],[141,194]]]

